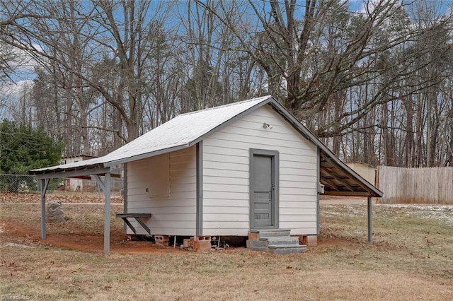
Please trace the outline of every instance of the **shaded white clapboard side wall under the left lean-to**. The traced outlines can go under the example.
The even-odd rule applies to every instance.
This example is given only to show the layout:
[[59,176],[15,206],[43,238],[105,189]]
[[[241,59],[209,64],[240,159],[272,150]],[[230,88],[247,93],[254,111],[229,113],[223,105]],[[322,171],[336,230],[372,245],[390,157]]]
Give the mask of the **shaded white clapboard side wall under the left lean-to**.
[[[195,235],[195,153],[196,148],[193,146],[127,163],[127,212],[151,213],[151,218],[147,220],[151,234]],[[169,169],[156,168],[166,162]],[[153,196],[151,192],[153,182],[159,183],[159,187],[154,187],[160,190],[159,196]],[[137,234],[147,234],[139,223],[130,220]],[[132,234],[132,231],[128,229],[127,233]]]

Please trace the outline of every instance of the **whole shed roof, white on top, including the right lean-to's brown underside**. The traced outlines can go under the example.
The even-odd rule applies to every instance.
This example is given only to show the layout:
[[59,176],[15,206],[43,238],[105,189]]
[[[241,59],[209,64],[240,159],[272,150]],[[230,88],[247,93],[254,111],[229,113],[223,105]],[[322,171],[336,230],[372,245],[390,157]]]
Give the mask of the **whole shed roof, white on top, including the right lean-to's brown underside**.
[[[320,151],[320,181],[325,185],[326,194],[336,195],[361,195],[382,196],[372,184],[360,177],[350,167],[336,157],[314,134],[299,122],[285,107],[280,105],[273,96],[253,98],[242,102],[235,102],[220,107],[212,107],[205,110],[180,114],[178,117],[161,124],[146,134],[139,136],[134,141],[125,144],[112,153],[103,157],[83,160],[76,163],[57,165],[52,167],[30,170],[31,174],[46,177],[53,173],[62,173],[74,170],[86,170],[90,175],[90,169],[112,167],[121,163],[149,158],[162,153],[177,151],[182,148],[194,146],[205,136],[212,134],[222,127],[231,124],[243,115],[253,110],[270,105],[280,113],[289,124],[292,124],[299,133],[319,147]],[[54,176],[52,176],[54,177]]]

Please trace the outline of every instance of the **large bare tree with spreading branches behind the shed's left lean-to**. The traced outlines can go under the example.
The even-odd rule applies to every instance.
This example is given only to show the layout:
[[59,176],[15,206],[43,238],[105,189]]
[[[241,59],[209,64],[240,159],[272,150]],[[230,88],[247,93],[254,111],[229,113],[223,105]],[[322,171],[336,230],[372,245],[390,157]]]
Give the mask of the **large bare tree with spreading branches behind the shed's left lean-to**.
[[[77,100],[83,141],[88,141],[86,118],[93,101],[89,95],[94,90],[101,95],[99,101],[108,102],[120,117],[113,129],[105,129],[121,138],[115,147],[139,136],[140,110],[144,106],[142,67],[152,51],[149,36],[153,33],[149,28],[154,18],[149,16],[155,6],[149,1],[131,0],[77,5],[73,1],[8,1],[5,6],[4,23],[8,28],[3,30],[1,40],[33,55],[47,69],[56,66],[61,71],[61,88],[67,91],[68,99]],[[105,56],[115,62],[115,86],[106,86],[100,81],[102,76],[92,77],[89,72],[100,66],[97,61]],[[67,116],[71,117],[68,104]],[[68,126],[72,123],[68,121]]]

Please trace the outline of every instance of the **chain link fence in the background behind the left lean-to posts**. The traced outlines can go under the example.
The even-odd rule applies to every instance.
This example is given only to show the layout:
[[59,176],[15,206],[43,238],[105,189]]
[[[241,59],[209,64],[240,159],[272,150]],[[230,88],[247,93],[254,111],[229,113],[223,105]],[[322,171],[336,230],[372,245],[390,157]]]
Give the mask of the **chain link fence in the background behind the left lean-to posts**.
[[[111,178],[111,191],[122,192],[122,179]],[[40,183],[33,175],[0,174],[0,191],[13,193],[40,193]],[[50,179],[47,191],[101,191],[96,179]]]

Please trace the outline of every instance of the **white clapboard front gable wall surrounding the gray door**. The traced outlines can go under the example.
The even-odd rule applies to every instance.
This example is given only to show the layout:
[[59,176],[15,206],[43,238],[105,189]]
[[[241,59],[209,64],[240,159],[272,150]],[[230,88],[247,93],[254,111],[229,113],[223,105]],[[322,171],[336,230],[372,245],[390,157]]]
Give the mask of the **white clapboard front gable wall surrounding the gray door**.
[[247,235],[249,148],[280,154],[279,227],[316,234],[316,146],[268,106],[203,140],[203,234]]

